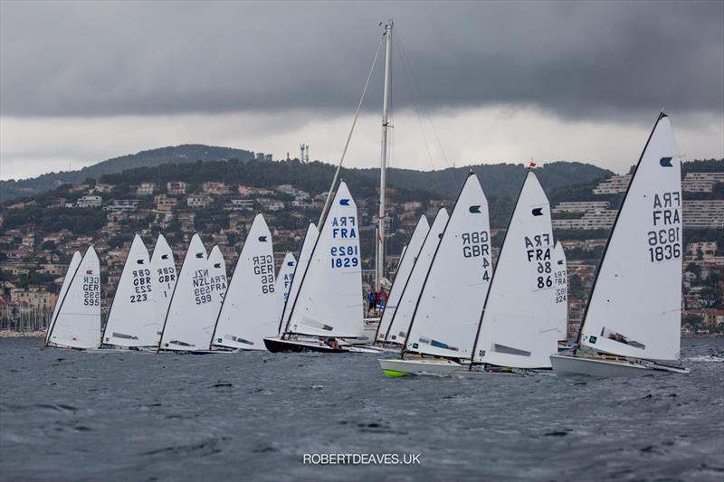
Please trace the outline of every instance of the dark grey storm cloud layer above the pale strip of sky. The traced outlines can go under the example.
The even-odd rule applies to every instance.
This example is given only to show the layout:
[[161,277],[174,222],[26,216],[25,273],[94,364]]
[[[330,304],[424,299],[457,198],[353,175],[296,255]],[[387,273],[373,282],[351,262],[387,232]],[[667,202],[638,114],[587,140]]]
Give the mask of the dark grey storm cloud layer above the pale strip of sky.
[[2,2],[0,112],[351,112],[387,17],[398,107],[419,91],[433,109],[534,104],[570,118],[724,109],[718,1]]

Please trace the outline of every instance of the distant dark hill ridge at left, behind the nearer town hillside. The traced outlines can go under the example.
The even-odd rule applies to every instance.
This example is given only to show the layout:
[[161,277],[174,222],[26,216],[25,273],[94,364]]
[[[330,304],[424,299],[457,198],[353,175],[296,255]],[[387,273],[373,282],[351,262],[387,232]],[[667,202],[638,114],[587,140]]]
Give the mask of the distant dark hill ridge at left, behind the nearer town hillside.
[[120,173],[137,167],[223,159],[247,161],[253,157],[254,153],[252,151],[231,147],[204,146],[201,144],[160,147],[127,156],[114,157],[76,171],[61,171],[28,179],[0,181],[0,202],[39,194],[43,191],[55,189],[61,184],[81,184],[88,178],[99,179],[101,175]]

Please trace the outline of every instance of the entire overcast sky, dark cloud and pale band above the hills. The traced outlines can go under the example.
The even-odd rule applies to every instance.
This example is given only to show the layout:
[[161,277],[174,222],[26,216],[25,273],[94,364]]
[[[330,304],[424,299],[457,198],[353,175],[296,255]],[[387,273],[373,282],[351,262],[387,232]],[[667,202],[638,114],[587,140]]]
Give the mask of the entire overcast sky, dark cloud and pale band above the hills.
[[[622,170],[662,107],[682,151],[724,156],[724,2],[4,1],[0,176],[186,142],[282,157],[306,141],[334,162],[388,17],[401,166],[431,168],[420,136],[402,138],[420,99],[458,165]],[[351,165],[376,164],[380,104],[381,63]]]

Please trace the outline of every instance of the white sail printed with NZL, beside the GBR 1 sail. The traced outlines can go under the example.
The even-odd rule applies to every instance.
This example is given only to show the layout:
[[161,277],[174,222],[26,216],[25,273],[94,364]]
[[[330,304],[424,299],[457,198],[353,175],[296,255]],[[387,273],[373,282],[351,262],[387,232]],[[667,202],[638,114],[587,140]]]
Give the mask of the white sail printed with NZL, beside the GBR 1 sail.
[[168,306],[160,348],[176,351],[208,349],[218,312],[214,301],[216,294],[204,243],[198,234],[194,234]]

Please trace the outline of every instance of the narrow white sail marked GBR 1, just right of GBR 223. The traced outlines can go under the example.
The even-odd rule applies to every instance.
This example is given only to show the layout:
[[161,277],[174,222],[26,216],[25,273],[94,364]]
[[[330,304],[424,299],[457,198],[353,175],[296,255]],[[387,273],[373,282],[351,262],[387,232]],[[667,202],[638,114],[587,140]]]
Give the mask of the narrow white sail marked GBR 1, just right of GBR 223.
[[161,331],[164,329],[164,321],[168,313],[168,305],[171,303],[171,296],[176,287],[176,263],[174,262],[174,251],[168,246],[163,234],[158,234],[156,247],[151,257],[151,292],[154,298],[154,316],[156,323],[156,342],[161,341]]

